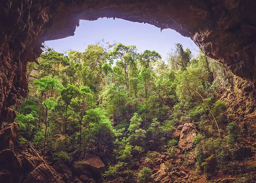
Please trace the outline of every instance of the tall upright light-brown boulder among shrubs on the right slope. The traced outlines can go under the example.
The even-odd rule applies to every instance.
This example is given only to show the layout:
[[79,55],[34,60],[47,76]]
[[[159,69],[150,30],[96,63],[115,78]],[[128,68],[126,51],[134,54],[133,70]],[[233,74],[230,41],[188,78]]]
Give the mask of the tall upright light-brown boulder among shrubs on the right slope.
[[192,123],[186,122],[183,124],[178,144],[181,153],[193,146],[193,139],[197,132],[195,125]]

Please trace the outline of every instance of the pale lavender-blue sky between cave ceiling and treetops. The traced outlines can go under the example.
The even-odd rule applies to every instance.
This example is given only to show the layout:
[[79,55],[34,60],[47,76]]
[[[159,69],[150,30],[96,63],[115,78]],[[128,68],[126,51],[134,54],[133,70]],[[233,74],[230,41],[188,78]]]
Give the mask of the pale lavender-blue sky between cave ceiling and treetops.
[[166,60],[176,43],[181,43],[184,49],[190,48],[195,56],[199,54],[199,48],[194,42],[175,30],[164,29],[161,32],[160,28],[153,25],[113,18],[80,20],[80,26],[76,28],[74,36],[46,41],[45,45],[61,53],[69,49],[83,52],[88,45],[96,44],[102,39],[111,44],[116,42],[135,45],[139,52],[146,49],[155,50],[163,60]]

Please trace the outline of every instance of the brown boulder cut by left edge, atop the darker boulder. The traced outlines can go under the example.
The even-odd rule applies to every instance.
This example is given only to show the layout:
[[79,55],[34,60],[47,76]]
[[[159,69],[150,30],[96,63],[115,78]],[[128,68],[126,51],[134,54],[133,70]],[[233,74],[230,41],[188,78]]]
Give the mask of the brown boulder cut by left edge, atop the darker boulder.
[[0,130],[0,150],[11,149],[16,141],[18,134],[17,123],[10,123],[8,126]]

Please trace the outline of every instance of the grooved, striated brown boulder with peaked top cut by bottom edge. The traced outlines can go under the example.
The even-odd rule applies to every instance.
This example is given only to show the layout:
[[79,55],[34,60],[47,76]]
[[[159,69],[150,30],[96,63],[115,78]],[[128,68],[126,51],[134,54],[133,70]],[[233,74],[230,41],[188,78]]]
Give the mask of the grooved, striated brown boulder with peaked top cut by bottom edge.
[[64,183],[61,175],[59,175],[53,167],[46,163],[42,163],[29,173],[23,183]]

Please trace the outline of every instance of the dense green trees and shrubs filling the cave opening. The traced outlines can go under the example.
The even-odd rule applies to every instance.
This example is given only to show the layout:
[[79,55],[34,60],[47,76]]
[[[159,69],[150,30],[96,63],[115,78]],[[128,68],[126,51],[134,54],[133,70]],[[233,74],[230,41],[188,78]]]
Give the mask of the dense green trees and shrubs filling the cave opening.
[[[191,122],[199,131],[197,174],[214,176],[242,158],[241,130],[218,100],[219,86],[229,84],[226,70],[203,53],[194,58],[176,44],[165,63],[155,51],[101,43],[67,55],[45,48],[38,63],[27,66],[29,95],[16,122],[19,143],[30,141],[43,157],[52,154],[74,166],[76,157],[100,153],[104,181],[147,183],[153,151],[175,157],[178,141],[171,134]],[[173,166],[166,162],[169,174]]]

